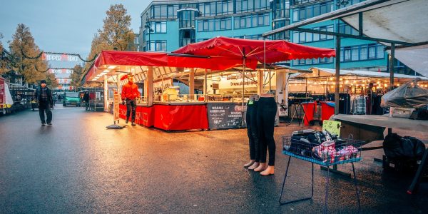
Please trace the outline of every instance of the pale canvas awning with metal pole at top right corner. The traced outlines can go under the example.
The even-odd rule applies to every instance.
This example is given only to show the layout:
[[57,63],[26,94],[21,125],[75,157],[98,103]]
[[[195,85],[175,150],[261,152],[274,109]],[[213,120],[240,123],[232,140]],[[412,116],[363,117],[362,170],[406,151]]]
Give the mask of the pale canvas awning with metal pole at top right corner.
[[367,0],[275,29],[263,36],[280,31],[298,30],[302,26],[320,21],[342,19],[354,29],[359,29],[361,24],[362,34],[366,38],[379,39],[385,46],[390,46],[395,41],[397,44],[395,58],[414,71],[428,76],[427,11],[426,0]]

